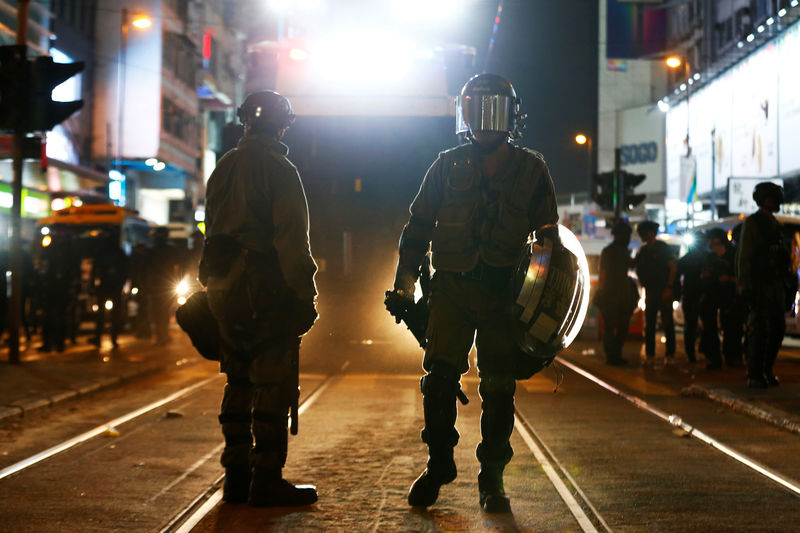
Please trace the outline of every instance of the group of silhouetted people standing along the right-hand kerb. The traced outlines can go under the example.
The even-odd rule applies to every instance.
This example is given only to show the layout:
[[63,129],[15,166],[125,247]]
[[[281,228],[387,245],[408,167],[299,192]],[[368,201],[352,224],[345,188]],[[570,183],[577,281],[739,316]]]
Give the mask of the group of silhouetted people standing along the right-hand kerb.
[[689,362],[697,361],[698,351],[708,370],[720,369],[723,363],[738,367],[746,361],[748,386],[779,384],[773,365],[785,333],[784,315],[797,292],[797,276],[774,216],[783,202],[783,190],[761,183],[753,198],[758,211],[741,226],[730,235],[721,228],[695,232],[694,242],[680,259],[656,238],[659,226],[655,222],[637,225],[642,245],[633,258],[628,250],[631,226],[624,221],[613,226],[614,241],[600,258],[595,298],[604,320],[608,364],[626,364],[622,347],[639,300],[636,282],[628,275],[633,269],[645,293],[645,364],[655,357],[659,315],[665,357],[675,356],[673,302],[679,301]]

